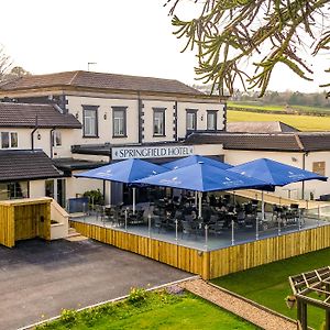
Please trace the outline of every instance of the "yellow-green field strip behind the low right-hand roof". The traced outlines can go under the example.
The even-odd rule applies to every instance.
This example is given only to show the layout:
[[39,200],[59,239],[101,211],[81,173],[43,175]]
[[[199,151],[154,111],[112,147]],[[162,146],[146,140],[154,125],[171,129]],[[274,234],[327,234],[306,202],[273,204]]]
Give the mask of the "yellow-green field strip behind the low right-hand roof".
[[282,121],[301,131],[330,131],[330,117],[228,111],[228,121]]

